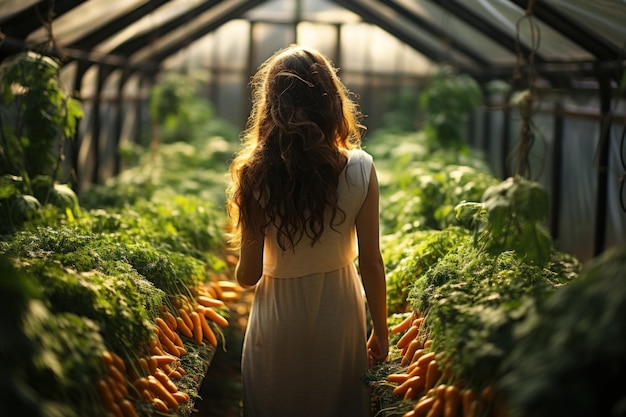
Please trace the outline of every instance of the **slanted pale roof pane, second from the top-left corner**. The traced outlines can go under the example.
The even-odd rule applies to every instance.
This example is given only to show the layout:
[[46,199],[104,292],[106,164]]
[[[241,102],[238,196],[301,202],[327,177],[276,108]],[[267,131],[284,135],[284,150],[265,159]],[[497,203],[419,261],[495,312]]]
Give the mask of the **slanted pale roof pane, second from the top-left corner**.
[[[52,33],[61,45],[67,45],[110,21],[136,9],[148,0],[90,0],[76,6],[52,22]],[[48,31],[42,27],[31,33],[26,41],[33,45],[48,39]]]

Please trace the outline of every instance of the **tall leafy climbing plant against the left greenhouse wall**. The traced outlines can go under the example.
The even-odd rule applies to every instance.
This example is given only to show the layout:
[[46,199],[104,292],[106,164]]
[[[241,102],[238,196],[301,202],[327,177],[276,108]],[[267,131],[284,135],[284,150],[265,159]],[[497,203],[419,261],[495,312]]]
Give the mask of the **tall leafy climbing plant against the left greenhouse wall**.
[[0,66],[0,233],[18,230],[42,205],[80,212],[75,193],[57,177],[65,140],[83,112],[58,78],[58,63],[34,53]]

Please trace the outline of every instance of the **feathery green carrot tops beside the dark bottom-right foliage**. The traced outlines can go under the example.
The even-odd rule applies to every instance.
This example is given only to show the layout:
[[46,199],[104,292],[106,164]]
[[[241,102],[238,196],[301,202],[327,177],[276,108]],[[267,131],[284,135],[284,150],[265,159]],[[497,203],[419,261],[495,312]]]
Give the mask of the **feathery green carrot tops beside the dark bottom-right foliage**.
[[417,278],[409,301],[426,314],[433,347],[457,377],[477,388],[493,381],[514,346],[514,324],[580,270],[558,252],[548,266],[513,251],[492,255],[469,239]]

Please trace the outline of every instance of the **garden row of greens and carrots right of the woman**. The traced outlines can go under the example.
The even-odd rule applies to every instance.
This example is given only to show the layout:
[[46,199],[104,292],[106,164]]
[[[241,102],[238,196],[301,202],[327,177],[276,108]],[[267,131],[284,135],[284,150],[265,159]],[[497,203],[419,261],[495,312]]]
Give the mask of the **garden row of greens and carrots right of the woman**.
[[427,130],[377,132],[392,349],[377,416],[626,415],[626,252],[583,269],[549,198]]

